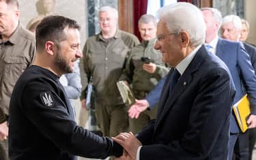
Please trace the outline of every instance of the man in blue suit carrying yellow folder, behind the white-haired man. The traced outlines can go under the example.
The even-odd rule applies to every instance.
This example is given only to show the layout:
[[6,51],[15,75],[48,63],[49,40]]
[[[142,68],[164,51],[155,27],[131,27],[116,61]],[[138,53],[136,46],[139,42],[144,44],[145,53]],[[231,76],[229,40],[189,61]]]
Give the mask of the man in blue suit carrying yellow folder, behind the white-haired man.
[[[231,42],[218,37],[218,30],[222,24],[221,12],[214,8],[202,8],[205,24],[207,26],[205,43],[210,46],[210,51],[216,54],[225,62],[231,72],[233,82],[236,87],[236,95],[233,103],[238,102],[246,93],[248,93],[251,106],[256,107],[256,76],[254,74],[251,59],[246,53],[244,46],[240,42]],[[226,31],[223,31],[223,33]],[[239,35],[238,33],[236,33]],[[233,35],[230,35],[231,37]],[[245,91],[246,90],[246,91]],[[256,110],[253,110],[251,116],[248,117],[247,123],[249,128],[256,126]],[[229,140],[229,159],[232,159],[233,148],[236,144],[241,131],[236,122],[236,118],[232,112],[230,125]],[[244,150],[240,150],[240,155],[246,159],[248,157],[248,140],[244,144]],[[242,153],[243,152],[243,153]],[[242,158],[241,157],[241,158]]]

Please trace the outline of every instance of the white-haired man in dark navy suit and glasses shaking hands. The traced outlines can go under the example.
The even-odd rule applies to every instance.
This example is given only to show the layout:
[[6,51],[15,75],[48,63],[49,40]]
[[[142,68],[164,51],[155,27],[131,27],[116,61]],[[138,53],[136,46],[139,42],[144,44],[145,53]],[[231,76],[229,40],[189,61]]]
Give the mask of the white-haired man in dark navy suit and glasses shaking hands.
[[159,16],[155,48],[173,68],[157,118],[136,136],[120,133],[114,140],[127,151],[124,158],[227,159],[235,94],[229,69],[203,45],[205,22],[195,5],[168,5]]

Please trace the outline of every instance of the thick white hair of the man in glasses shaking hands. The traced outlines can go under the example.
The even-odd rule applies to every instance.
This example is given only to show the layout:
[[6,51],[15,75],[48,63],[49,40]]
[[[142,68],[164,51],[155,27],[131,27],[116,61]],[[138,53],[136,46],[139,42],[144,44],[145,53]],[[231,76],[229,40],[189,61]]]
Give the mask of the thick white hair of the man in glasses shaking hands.
[[158,11],[159,20],[166,23],[169,32],[186,31],[190,45],[199,46],[205,42],[205,22],[201,10],[191,3],[173,3]]

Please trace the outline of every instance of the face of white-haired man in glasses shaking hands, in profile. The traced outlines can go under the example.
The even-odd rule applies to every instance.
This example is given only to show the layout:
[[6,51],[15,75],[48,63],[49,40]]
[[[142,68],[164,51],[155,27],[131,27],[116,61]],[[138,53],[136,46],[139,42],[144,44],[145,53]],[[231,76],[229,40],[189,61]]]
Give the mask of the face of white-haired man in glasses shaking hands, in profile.
[[162,53],[162,62],[175,67],[183,59],[179,35],[169,32],[165,22],[160,20],[157,25],[156,36],[158,40],[154,48]]

